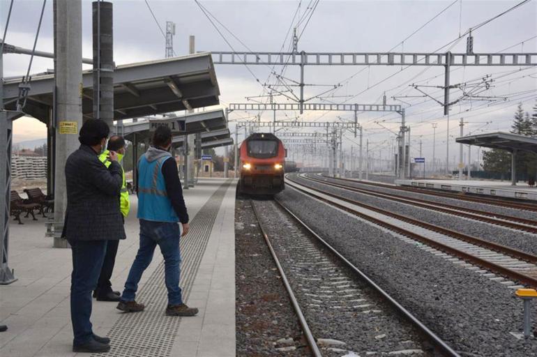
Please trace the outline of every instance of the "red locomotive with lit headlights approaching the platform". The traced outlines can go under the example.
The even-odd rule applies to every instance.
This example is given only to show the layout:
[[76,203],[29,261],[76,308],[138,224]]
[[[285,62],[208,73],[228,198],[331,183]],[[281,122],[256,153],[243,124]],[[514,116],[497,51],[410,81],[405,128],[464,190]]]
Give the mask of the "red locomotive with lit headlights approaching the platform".
[[239,192],[273,195],[285,188],[283,181],[286,151],[278,137],[257,132],[241,144]]

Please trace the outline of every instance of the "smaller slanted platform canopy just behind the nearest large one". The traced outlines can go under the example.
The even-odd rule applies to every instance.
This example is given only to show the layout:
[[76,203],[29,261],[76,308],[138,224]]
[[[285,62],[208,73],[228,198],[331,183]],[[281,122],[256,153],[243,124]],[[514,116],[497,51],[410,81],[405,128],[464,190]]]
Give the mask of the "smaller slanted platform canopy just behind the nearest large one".
[[202,132],[202,135],[207,135],[218,130],[226,130],[226,135],[229,137],[227,119],[223,109],[206,110],[204,112],[189,113],[183,116],[167,116],[165,118],[138,118],[137,121],[133,121],[132,123],[119,122],[116,124],[116,132],[119,135],[123,135],[123,137],[131,142],[134,142],[134,135],[136,135],[137,141],[143,141],[144,139],[149,139],[151,137],[151,121],[158,121],[160,123],[185,121],[186,130],[180,133],[175,132],[174,136],[176,137],[183,137],[186,134],[194,134],[196,132]]

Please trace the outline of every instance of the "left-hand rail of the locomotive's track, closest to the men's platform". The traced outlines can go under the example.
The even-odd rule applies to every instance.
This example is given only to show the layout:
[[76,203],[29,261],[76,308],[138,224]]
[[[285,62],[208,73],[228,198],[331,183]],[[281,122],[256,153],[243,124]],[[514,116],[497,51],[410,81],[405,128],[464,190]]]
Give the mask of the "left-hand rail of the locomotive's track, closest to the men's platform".
[[278,257],[276,256],[276,252],[272,248],[272,244],[271,244],[271,241],[269,240],[269,236],[266,234],[266,231],[263,228],[261,220],[259,220],[259,215],[257,214],[257,209],[255,208],[255,204],[252,199],[250,199],[250,205],[252,206],[252,210],[254,211],[255,219],[257,220],[257,225],[259,226],[259,229],[261,230],[263,234],[265,243],[269,247],[272,258],[274,259],[276,267],[278,268],[278,272],[280,273],[280,276],[282,277],[282,282],[285,286],[285,289],[287,290],[287,294],[289,294],[289,300],[291,301],[293,305],[293,309],[298,317],[298,322],[300,323],[302,327],[302,331],[304,333],[305,339],[308,341],[308,345],[312,352],[312,356],[322,357],[321,351],[319,350],[319,347],[317,346],[317,342],[315,341],[315,337],[313,337],[310,326],[308,326],[308,321],[306,321],[304,314],[302,313],[302,310],[300,308],[300,305],[298,305],[298,301],[296,300],[296,297],[294,296],[293,289],[291,285],[289,284],[289,280],[287,280],[287,275],[285,275],[282,265],[280,264],[280,261],[278,260]]

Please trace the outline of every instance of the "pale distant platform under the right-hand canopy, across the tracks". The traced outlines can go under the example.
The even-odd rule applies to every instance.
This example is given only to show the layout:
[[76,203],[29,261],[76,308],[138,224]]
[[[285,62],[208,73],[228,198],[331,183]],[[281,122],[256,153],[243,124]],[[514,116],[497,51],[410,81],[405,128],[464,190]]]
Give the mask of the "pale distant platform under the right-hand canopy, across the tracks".
[[513,186],[510,181],[405,179],[395,180],[395,184],[537,201],[537,188],[532,188],[527,183],[522,182]]

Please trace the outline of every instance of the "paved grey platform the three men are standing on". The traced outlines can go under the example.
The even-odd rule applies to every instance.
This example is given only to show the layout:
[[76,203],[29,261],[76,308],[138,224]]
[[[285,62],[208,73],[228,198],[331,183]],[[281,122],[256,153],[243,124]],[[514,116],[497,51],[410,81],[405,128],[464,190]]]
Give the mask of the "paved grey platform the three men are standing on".
[[[167,317],[167,291],[160,252],[139,285],[139,313],[116,303],[93,301],[94,333],[111,338],[99,356],[235,356],[235,257],[233,179],[199,179],[186,190],[190,233],[181,238],[183,299],[196,317]],[[122,290],[138,248],[137,200],[131,195],[127,238],[119,244],[112,287]],[[0,356],[76,356],[70,324],[70,249],[52,248],[45,219],[10,225],[10,268],[16,282],[0,286]],[[88,356],[87,354],[78,354]]]

